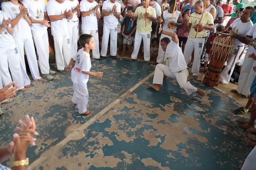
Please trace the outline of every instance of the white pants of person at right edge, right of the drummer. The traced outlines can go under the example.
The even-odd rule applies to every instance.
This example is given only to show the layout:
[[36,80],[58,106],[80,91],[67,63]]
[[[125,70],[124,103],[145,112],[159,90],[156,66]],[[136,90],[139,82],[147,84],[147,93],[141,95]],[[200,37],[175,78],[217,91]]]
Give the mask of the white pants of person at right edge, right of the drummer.
[[248,55],[253,52],[254,54],[256,54],[256,51],[252,50],[251,48],[249,48],[248,51],[246,52],[242,70],[240,72],[238,79],[238,87],[236,91],[240,94],[243,94],[244,96],[249,95],[252,81],[256,75],[253,70],[253,67],[256,66],[256,61],[252,58],[248,58]]

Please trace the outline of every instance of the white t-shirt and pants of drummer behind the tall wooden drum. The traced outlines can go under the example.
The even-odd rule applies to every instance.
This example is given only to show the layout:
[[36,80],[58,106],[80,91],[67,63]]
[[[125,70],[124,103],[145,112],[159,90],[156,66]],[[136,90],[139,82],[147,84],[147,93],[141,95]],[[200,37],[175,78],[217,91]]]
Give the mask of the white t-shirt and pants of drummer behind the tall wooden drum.
[[[234,32],[237,33],[237,35],[245,37],[249,32],[250,28],[252,27],[252,25],[253,24],[251,20],[249,22],[242,23],[240,18],[237,18],[230,25],[230,27]],[[240,42],[237,38],[235,38],[234,47],[231,50],[231,57],[228,58],[228,63],[226,67],[223,69],[222,73],[220,74],[220,82],[223,82],[225,84],[229,83],[229,80],[231,78],[231,75],[236,65],[236,61],[238,60],[239,55],[243,52],[243,50],[244,50],[244,43]],[[241,77],[241,75],[239,77]],[[250,86],[249,86],[249,90],[250,90]]]

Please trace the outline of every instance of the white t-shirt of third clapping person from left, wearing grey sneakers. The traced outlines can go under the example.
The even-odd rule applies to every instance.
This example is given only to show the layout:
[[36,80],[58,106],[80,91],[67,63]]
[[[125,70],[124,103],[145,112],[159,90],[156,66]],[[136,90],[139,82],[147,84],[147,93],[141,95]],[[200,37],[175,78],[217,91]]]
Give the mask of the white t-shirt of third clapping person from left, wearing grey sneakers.
[[[46,11],[46,4],[44,0],[23,0],[24,5],[28,8],[29,15],[35,20],[44,20],[44,12]],[[32,31],[46,31],[47,27],[40,23],[31,23]]]

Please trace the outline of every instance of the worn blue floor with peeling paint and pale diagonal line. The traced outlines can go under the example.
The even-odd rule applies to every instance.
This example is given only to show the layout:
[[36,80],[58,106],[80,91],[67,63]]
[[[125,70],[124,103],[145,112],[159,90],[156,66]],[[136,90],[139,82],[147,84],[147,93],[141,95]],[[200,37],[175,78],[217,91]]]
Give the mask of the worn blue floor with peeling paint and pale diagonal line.
[[[51,65],[54,67],[54,65]],[[89,104],[92,115],[80,116],[72,103],[70,71],[52,81],[32,81],[27,92],[1,105],[0,145],[11,141],[26,114],[37,124],[36,146],[28,148],[28,169],[236,169],[252,150],[232,113],[247,100],[229,95],[236,87],[216,88],[189,77],[206,96],[187,96],[167,78],[160,92],[148,88],[154,66],[126,58],[92,61]],[[199,78],[200,79],[200,78]],[[4,162],[10,166],[11,161]]]

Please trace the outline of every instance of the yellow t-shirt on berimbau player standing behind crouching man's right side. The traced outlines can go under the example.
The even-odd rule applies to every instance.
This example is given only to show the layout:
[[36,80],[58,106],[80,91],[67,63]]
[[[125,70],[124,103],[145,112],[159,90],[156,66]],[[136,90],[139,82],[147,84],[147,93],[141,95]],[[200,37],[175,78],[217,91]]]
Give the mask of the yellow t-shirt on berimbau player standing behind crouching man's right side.
[[[206,37],[207,36],[207,33],[206,33],[207,30],[206,29],[203,29],[203,31],[198,32],[197,35],[196,35],[196,31],[195,31],[195,25],[200,22],[200,18],[202,16],[202,14],[199,15],[196,12],[194,12],[190,16],[191,17],[190,17],[189,23],[191,23],[191,28],[190,28],[190,32],[189,32],[188,38],[195,38],[195,36],[196,36],[196,38]],[[205,11],[201,23],[206,25],[206,26],[210,25],[210,24],[213,24],[212,14],[210,14],[207,11]]]

